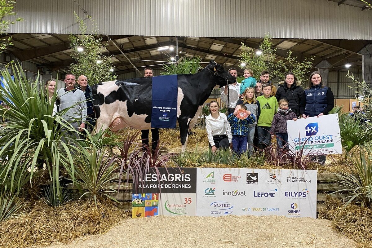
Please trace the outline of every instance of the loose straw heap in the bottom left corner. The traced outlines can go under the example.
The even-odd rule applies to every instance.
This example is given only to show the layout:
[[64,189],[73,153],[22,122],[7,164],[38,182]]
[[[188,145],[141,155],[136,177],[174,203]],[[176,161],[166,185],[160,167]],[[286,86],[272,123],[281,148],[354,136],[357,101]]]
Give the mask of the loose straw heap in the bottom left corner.
[[92,200],[68,202],[50,207],[39,200],[26,204],[16,218],[0,223],[0,247],[36,247],[107,232],[128,216],[110,200],[101,200],[97,206]]

